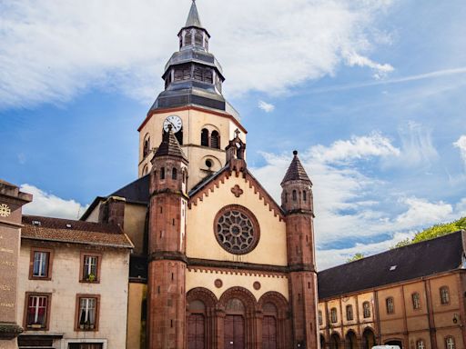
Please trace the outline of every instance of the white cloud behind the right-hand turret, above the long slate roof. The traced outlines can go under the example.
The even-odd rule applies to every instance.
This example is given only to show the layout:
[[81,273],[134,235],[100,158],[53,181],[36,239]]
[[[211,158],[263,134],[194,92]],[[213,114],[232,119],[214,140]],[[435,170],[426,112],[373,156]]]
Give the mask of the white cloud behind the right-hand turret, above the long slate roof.
[[[378,164],[373,160],[394,161],[400,156],[400,149],[380,133],[353,136],[329,146],[314,145],[299,154],[314,184],[319,269],[344,263],[358,252],[382,252],[431,224],[451,222],[466,212],[466,198],[458,204],[432,202],[407,196],[394,190],[390,182],[378,179],[374,173]],[[279,183],[291,155],[264,157],[267,164],[253,169],[253,173],[279,202]],[[369,163],[375,168],[368,170]],[[349,245],[331,247],[341,246],[342,241]],[[367,244],[362,244],[364,241]]]

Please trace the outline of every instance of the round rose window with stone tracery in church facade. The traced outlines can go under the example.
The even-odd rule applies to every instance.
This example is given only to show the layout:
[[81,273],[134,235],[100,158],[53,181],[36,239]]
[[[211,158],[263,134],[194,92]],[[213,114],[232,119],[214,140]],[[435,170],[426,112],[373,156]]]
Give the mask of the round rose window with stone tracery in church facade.
[[258,244],[258,221],[246,207],[230,204],[214,221],[218,244],[231,254],[248,254]]

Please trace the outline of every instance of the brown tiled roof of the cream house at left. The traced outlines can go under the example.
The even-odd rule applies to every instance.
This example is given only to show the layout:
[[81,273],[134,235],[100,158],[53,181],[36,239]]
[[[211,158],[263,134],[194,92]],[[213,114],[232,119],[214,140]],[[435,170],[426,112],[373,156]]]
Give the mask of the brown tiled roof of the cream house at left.
[[116,224],[100,224],[61,218],[23,215],[21,237],[75,244],[96,244],[133,248],[133,244]]

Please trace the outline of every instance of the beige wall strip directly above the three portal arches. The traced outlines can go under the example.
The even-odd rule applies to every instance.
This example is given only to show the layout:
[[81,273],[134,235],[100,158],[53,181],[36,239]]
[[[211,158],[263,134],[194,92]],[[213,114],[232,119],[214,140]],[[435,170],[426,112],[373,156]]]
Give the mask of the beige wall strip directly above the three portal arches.
[[[215,281],[222,281],[221,287],[215,286]],[[253,284],[260,283],[260,289],[255,290]],[[256,301],[270,291],[282,294],[287,300],[289,299],[289,283],[288,277],[279,274],[252,274],[242,272],[226,272],[219,270],[204,270],[200,268],[187,269],[186,289],[187,292],[196,287],[207,288],[220,299],[221,295],[228,288],[241,286],[246,288],[256,297]]]

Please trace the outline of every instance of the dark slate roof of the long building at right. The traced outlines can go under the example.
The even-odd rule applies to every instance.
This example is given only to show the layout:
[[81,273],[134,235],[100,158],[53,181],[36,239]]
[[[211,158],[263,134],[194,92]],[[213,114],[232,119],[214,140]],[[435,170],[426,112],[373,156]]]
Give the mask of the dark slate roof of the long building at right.
[[[319,299],[408,281],[461,267],[460,232],[323,270],[318,274]],[[393,270],[390,270],[393,269]]]

